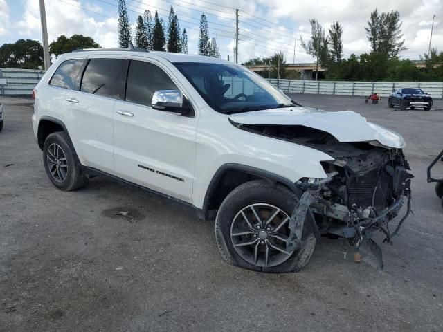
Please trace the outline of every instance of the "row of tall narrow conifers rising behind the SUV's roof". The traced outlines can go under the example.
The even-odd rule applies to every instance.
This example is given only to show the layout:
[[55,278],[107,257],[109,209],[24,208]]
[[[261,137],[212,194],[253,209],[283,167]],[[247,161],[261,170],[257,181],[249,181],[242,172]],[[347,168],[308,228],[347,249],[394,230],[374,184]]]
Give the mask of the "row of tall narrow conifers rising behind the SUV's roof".
[[[172,53],[188,53],[188,34],[186,28],[181,30],[179,19],[171,6],[168,16],[168,26],[159,13],[155,11],[152,17],[150,10],[138,15],[134,28],[134,43],[131,25],[127,14],[126,1],[118,0],[118,46],[137,47],[145,50],[168,51]],[[209,38],[206,15],[200,17],[199,55],[220,57],[215,38]]]

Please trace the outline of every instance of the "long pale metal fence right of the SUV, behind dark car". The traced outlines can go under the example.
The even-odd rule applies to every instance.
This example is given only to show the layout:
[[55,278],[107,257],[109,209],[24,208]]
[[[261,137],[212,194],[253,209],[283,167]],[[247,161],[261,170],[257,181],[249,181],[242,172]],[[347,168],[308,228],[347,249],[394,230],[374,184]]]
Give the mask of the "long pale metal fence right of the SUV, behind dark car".
[[387,97],[392,89],[420,88],[433,98],[443,98],[443,82],[346,82],[346,81],[302,81],[270,79],[285,93],[314,93],[322,95],[370,95],[377,93]]

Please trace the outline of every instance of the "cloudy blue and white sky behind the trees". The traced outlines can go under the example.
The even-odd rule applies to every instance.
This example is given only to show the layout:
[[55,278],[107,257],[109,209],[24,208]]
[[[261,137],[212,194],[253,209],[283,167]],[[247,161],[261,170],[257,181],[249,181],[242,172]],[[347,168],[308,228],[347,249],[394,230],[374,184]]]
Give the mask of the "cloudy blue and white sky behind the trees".
[[[117,46],[118,0],[45,0],[49,41],[59,35],[89,35],[103,47]],[[219,4],[215,4],[219,3]],[[222,4],[222,5],[221,5]],[[325,28],[343,26],[345,56],[368,52],[365,25],[370,12],[398,10],[408,48],[401,57],[419,59],[427,52],[431,22],[436,15],[432,46],[443,50],[443,0],[127,0],[129,19],[148,9],[168,20],[170,6],[188,31],[189,53],[197,53],[199,16],[208,16],[210,37],[217,38],[221,57],[233,58],[235,8],[239,9],[239,61],[282,50],[287,62],[313,62],[301,47],[309,38],[309,18]],[[19,38],[41,40],[38,0],[0,0],[0,44]],[[134,29],[134,27],[133,27]]]

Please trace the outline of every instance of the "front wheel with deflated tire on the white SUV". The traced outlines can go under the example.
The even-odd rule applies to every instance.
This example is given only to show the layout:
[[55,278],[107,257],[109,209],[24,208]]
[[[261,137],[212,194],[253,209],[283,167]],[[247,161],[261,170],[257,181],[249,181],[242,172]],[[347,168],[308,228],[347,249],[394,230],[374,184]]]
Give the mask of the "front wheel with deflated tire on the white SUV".
[[297,272],[307,264],[316,245],[307,214],[302,246],[287,250],[289,219],[300,195],[287,187],[257,180],[235,188],[221,204],[215,219],[215,239],[229,263],[268,273]]

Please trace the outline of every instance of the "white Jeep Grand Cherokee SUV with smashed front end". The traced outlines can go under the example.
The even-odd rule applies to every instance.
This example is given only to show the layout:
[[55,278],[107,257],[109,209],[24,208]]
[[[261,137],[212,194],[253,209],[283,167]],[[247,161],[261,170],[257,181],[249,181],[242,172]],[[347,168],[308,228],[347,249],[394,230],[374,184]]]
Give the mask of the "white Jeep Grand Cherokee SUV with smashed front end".
[[399,134],[352,111],[302,107],[213,57],[64,54],[37,84],[34,109],[56,187],[100,174],[192,205],[215,217],[221,255],[243,268],[300,270],[320,234],[368,245],[381,261],[372,234],[390,242],[410,210]]

